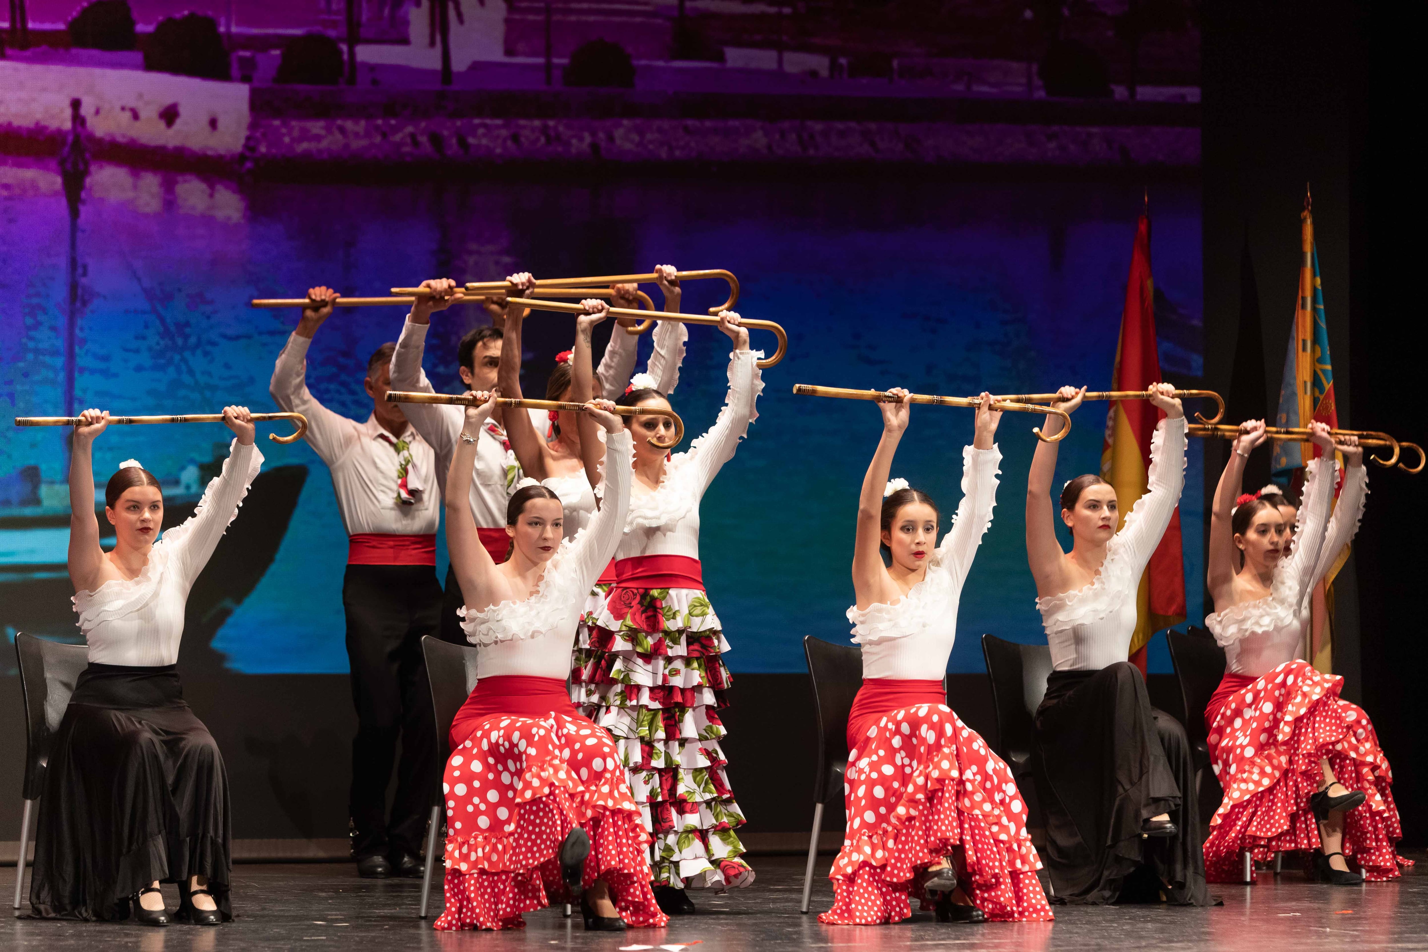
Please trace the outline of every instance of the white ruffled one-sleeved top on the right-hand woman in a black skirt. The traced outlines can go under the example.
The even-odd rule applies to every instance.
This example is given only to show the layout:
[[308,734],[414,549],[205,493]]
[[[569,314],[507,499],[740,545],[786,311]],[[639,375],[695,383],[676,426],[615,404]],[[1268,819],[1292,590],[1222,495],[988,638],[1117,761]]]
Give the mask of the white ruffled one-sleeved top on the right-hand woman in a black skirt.
[[1137,592],[1185,488],[1185,418],[1165,418],[1151,437],[1147,490],[1105,545],[1090,585],[1037,599],[1057,671],[1100,671],[1125,661],[1135,635]]

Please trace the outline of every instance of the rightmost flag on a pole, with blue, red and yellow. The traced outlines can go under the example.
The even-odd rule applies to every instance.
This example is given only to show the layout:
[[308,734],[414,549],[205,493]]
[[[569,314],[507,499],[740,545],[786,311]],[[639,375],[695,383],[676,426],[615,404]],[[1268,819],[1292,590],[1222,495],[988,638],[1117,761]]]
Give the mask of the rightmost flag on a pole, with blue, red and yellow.
[[[1338,427],[1338,410],[1334,401],[1334,364],[1329,360],[1329,331],[1324,321],[1324,287],[1319,283],[1319,253],[1314,244],[1314,216],[1305,194],[1304,213],[1299,216],[1299,294],[1294,308],[1294,325],[1289,328],[1289,348],[1284,358],[1284,377],[1279,383],[1279,410],[1275,414],[1278,427],[1308,427],[1318,420],[1329,427]],[[1319,455],[1312,442],[1278,442],[1274,448],[1275,482],[1301,487],[1304,464]],[[1338,487],[1334,490],[1338,500]],[[1314,589],[1314,624],[1311,644],[1302,645],[1304,657],[1318,671],[1332,672],[1332,628],[1334,595],[1329,585],[1348,561],[1349,548],[1338,554],[1324,584]]]

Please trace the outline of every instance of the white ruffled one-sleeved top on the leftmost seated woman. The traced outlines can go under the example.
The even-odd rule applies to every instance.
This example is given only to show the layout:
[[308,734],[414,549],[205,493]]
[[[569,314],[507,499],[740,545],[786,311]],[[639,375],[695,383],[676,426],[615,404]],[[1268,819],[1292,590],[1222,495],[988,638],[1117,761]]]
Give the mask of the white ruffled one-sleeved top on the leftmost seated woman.
[[208,482],[193,515],[153,544],[144,571],[74,595],[90,661],[144,668],[178,662],[188,589],[238,514],[261,467],[258,448],[234,440],[223,472]]

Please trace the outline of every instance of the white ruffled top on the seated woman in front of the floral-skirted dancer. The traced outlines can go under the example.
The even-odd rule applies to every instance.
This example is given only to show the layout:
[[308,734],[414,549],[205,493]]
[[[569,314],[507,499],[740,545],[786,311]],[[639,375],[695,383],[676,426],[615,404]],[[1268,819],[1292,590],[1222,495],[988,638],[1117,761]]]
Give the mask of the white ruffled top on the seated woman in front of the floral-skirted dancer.
[[570,652],[585,594],[614,555],[628,514],[634,478],[630,452],[628,430],[608,438],[604,505],[574,538],[560,544],[534,595],[481,611],[457,609],[467,641],[481,647],[476,661],[478,679],[518,674],[564,681],[570,674]]

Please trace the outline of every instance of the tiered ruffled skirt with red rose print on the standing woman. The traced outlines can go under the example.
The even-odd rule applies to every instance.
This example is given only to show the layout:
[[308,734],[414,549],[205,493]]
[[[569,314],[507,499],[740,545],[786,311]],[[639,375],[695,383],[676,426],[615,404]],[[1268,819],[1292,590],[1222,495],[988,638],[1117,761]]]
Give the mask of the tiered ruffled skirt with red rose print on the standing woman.
[[614,736],[653,838],[655,885],[723,891],[754,879],[735,832],[744,815],[720,748],[725,651],[703,588],[617,582],[581,625],[571,699]]

